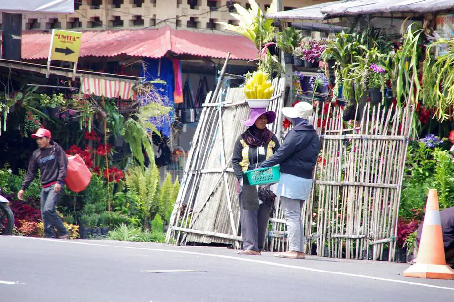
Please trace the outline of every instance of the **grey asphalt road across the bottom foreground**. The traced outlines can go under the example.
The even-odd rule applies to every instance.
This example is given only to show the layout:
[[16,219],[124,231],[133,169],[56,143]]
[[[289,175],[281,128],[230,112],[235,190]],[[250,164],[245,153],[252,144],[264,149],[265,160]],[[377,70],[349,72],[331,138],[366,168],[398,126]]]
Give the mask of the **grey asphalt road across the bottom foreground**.
[[0,236],[0,257],[0,302],[448,302],[454,297],[454,281],[404,278],[406,264],[245,256],[219,247]]

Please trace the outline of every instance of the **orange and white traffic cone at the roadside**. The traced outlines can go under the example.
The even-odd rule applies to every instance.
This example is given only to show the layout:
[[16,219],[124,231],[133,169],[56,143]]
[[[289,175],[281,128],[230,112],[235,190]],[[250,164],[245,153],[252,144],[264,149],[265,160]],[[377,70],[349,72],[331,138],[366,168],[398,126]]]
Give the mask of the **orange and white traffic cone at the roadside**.
[[430,189],[416,263],[403,272],[405,277],[454,279],[454,270],[446,265],[437,190]]

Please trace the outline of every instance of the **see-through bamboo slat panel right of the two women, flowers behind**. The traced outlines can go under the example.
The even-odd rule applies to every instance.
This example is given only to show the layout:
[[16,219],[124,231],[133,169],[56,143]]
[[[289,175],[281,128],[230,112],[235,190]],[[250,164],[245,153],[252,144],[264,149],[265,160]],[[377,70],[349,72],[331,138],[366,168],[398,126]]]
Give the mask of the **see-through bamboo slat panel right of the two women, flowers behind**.
[[[362,118],[349,129],[343,127],[343,108],[329,103],[315,110],[315,117],[325,114],[327,120],[323,127],[322,119],[315,119],[322,150],[303,209],[305,235],[310,240],[305,250],[311,254],[314,242],[318,256],[393,261],[413,112],[367,103],[360,115],[358,107],[355,120],[358,115]],[[270,249],[284,251],[286,228],[279,200],[276,208]]]

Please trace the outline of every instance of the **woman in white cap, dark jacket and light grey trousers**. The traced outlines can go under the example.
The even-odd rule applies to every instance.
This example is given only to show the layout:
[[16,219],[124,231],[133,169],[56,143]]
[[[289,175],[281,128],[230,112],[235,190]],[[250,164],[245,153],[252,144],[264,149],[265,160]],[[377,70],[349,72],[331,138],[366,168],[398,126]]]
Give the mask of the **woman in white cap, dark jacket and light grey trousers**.
[[312,189],[312,179],[320,139],[313,128],[312,106],[300,102],[291,108],[282,108],[282,113],[292,119],[290,130],[276,153],[261,164],[261,168],[281,165],[281,178],[276,195],[281,197],[282,209],[287,223],[289,251],[275,256],[304,259],[304,228],[301,212],[304,201]]

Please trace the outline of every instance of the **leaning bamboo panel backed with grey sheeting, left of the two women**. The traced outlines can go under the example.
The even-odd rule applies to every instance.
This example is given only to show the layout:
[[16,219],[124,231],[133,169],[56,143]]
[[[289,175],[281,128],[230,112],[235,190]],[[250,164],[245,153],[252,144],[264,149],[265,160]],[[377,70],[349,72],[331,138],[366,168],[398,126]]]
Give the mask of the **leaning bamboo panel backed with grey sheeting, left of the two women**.
[[[268,109],[278,116],[269,128],[278,133],[284,80],[275,79],[273,85],[275,95]],[[243,88],[227,89],[224,102],[211,95],[203,105],[166,242],[233,243],[240,248],[237,179],[231,159],[235,142],[245,130],[242,121],[249,117],[249,107]]]

